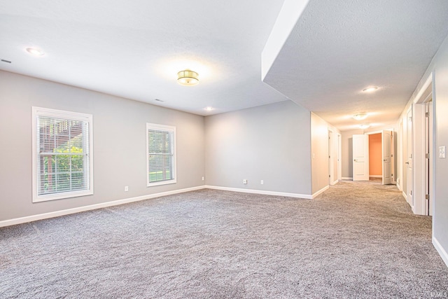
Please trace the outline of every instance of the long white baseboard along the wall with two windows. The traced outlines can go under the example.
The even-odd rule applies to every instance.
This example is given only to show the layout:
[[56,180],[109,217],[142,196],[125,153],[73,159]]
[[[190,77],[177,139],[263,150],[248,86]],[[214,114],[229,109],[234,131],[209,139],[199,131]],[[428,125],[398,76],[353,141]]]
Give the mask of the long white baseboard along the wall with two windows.
[[123,200],[114,200],[112,202],[102,202],[100,204],[90,204],[90,205],[84,206],[84,207],[64,209],[61,211],[51,211],[49,213],[44,213],[44,214],[37,214],[37,215],[20,217],[20,218],[13,218],[13,219],[0,221],[0,228],[3,226],[9,226],[9,225],[27,223],[27,222],[37,221],[37,220],[42,220],[42,219],[47,219],[47,218],[64,216],[64,215],[69,215],[69,214],[75,214],[75,213],[79,213],[81,211],[90,211],[92,209],[113,207],[113,206],[118,206],[120,204],[127,204],[130,202],[139,202],[140,200],[150,200],[151,198],[155,198],[155,197],[172,195],[172,194],[177,194],[177,193],[184,193],[184,192],[195,191],[195,190],[201,190],[204,188],[205,188],[205,186],[197,186],[197,187],[192,187],[192,188],[185,188],[185,189],[172,190],[172,191],[155,193],[155,194],[150,194],[150,195],[143,195],[143,196],[139,196],[139,197],[130,197],[130,198],[125,198]]

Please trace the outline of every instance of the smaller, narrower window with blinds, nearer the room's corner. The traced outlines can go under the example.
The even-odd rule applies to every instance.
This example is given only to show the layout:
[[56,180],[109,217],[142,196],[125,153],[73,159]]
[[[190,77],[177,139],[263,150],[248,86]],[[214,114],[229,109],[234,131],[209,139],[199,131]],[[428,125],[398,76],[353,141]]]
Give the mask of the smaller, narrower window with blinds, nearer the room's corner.
[[176,127],[146,124],[148,187],[176,183]]

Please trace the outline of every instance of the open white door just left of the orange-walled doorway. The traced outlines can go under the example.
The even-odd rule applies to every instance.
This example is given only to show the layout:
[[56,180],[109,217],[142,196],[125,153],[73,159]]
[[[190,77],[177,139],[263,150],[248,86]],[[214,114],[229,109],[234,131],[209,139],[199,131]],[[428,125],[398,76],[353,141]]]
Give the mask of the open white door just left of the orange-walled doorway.
[[369,180],[369,136],[353,135],[353,181]]

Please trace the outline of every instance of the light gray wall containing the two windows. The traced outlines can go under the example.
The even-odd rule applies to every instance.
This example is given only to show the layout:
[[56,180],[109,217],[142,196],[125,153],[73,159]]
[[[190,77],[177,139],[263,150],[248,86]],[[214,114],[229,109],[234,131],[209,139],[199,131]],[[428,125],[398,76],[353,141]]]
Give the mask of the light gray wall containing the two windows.
[[[31,106],[93,115],[94,195],[31,202]],[[176,126],[176,184],[146,187],[146,123]],[[204,185],[202,116],[5,71],[0,140],[0,221]]]

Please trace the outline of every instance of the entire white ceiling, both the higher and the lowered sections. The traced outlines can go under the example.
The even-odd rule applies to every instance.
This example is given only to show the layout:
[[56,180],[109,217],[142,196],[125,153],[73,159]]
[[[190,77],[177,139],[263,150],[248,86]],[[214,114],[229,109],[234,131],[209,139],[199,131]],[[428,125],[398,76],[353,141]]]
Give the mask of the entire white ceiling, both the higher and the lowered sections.
[[[289,98],[349,130],[354,113],[397,120],[448,34],[446,0],[311,0],[264,78],[271,88],[260,55],[282,4],[2,0],[0,58],[12,63],[0,69],[203,116]],[[200,83],[176,83],[182,69]]]

